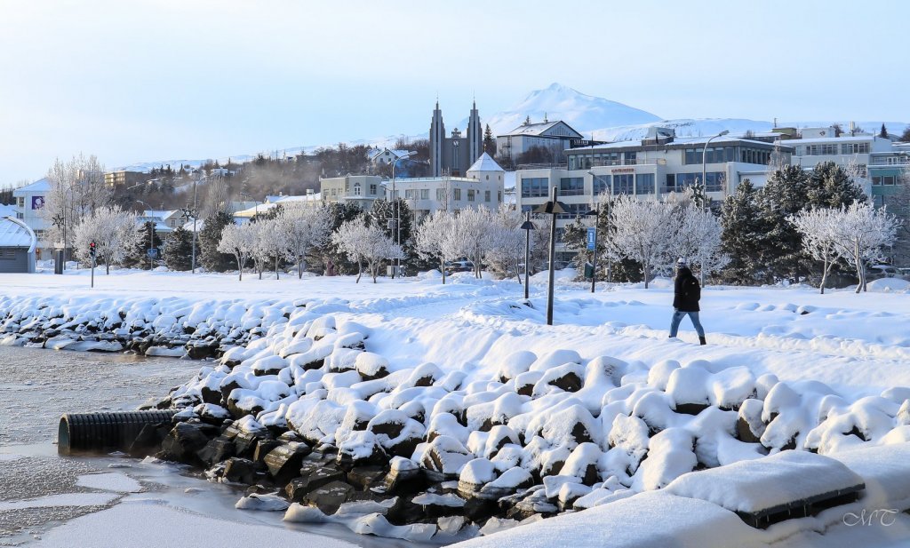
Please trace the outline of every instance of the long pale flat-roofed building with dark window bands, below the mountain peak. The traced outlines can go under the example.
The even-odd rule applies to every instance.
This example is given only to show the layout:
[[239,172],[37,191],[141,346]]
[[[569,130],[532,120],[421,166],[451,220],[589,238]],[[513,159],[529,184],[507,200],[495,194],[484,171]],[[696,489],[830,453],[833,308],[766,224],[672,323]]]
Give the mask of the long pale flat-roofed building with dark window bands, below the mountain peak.
[[559,200],[568,211],[557,215],[558,252],[561,260],[568,260],[573,253],[561,244],[562,230],[590,211],[602,194],[662,200],[701,181],[704,170],[708,196],[722,200],[746,178],[764,184],[773,154],[780,154],[784,163],[793,154],[791,146],[742,137],[708,141],[708,137],[677,138],[672,130],[654,128],[642,141],[567,150],[565,167],[516,172],[516,206],[532,211],[550,200],[552,188],[559,188]]

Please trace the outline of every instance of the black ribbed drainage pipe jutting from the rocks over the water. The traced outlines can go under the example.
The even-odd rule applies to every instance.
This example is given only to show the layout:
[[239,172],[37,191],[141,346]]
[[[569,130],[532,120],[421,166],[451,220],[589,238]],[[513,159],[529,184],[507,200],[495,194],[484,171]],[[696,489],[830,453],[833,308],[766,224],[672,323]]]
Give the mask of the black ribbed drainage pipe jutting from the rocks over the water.
[[57,428],[57,453],[129,449],[147,424],[170,423],[176,410],[65,413]]

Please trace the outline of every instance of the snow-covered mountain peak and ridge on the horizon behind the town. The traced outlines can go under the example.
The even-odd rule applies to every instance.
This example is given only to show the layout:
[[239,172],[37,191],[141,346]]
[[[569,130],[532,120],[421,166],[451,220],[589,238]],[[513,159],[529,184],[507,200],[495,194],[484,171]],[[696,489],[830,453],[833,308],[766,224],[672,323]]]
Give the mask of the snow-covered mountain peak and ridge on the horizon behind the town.
[[[623,105],[616,101],[585,95],[566,85],[558,83],[532,91],[521,101],[513,105],[509,110],[483,116],[482,105],[480,110],[480,123],[484,127],[490,125],[493,135],[503,135],[519,127],[527,118],[531,122],[542,122],[544,119],[556,121],[562,120],[571,125],[576,131],[585,137],[591,137],[593,132],[594,138],[598,141],[630,141],[641,139],[647,135],[648,129],[653,126],[672,127],[676,135],[687,136],[704,136],[717,135],[723,130],[729,131],[733,135],[742,135],[747,131],[755,133],[766,132],[773,128],[772,122],[763,120],[749,120],[744,118],[680,118],[674,120],[664,120],[658,115],[647,111],[634,108],[629,105]],[[844,129],[850,125],[849,120],[834,121],[813,121],[813,122],[778,122],[779,127],[818,127],[832,124],[840,124]],[[857,127],[865,131],[877,134],[881,128],[882,121],[859,121],[854,122]],[[908,125],[906,122],[884,122],[890,133],[902,133]],[[459,127],[462,130],[467,128],[468,119],[459,120],[457,124],[447,127]],[[372,146],[392,146],[398,141],[401,135],[388,135],[384,137],[375,137],[372,139],[355,139],[347,141],[348,144],[369,144]],[[407,139],[426,139],[427,133],[419,135],[408,135]],[[263,151],[260,154],[274,157],[276,154],[295,155],[311,153],[321,146],[333,146],[334,144],[313,144],[306,146],[294,146],[277,151]],[[181,164],[198,166],[204,164],[208,159],[216,160],[222,164],[228,159],[244,163],[255,159],[257,154],[233,154],[219,158],[207,158],[202,160],[160,160],[157,162],[139,162],[118,167],[116,169],[129,171],[150,171],[153,167],[160,165],[170,165],[174,169],[179,169]]]

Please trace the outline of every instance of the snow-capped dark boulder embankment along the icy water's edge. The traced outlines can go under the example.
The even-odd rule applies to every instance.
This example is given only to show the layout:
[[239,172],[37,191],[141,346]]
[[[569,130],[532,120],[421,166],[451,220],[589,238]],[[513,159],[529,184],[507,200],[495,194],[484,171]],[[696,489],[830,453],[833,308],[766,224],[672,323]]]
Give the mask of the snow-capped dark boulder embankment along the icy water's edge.
[[[532,303],[496,298],[496,284],[472,294],[494,298],[455,300],[454,317],[405,330],[407,323],[387,325],[382,315],[393,300],[332,298],[23,295],[0,298],[0,318],[3,329],[18,332],[6,334],[5,344],[73,348],[100,343],[110,330],[136,352],[205,347],[220,355],[161,404],[184,409],[182,426],[161,432],[164,456],[207,468],[216,481],[261,485],[243,507],[291,504],[288,520],[343,523],[361,533],[450,542],[611,507],[693,470],[789,448],[836,456],[910,439],[906,389],[838,394],[694,353],[636,360],[551,346],[498,352],[480,367],[408,354],[418,330],[436,324],[445,329],[434,336],[455,355],[477,341],[472,331],[447,334],[451,325],[487,324],[490,336],[504,336],[515,329],[510,314],[531,326],[539,314]],[[558,304],[563,314],[573,305]],[[70,337],[82,340],[63,343]],[[201,434],[198,446],[187,443],[190,431]],[[328,482],[312,481],[327,473]],[[281,497],[264,493],[277,490]]]

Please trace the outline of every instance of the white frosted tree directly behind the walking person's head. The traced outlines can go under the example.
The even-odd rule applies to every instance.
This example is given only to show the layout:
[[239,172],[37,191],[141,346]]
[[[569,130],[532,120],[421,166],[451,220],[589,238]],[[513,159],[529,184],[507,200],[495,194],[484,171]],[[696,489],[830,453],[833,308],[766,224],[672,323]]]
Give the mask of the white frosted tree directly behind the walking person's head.
[[697,264],[705,274],[712,274],[730,262],[723,253],[720,222],[710,212],[695,204],[681,204],[674,212],[676,233],[670,242],[670,255]]

